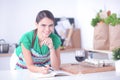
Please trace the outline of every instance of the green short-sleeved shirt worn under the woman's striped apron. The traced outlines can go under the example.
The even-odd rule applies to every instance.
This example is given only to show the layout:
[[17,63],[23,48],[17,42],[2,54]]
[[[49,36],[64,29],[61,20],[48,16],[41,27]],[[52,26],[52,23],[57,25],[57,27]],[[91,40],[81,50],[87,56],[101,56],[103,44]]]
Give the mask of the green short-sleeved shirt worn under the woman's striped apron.
[[[19,42],[19,46],[16,48],[16,54],[17,54],[17,56],[19,56],[22,53],[21,43],[23,43],[23,45],[25,46],[26,49],[31,50],[33,36],[34,36],[34,30],[25,33],[21,37],[20,42]],[[60,38],[56,34],[54,34],[54,33],[51,33],[49,35],[49,37],[53,41],[54,49],[57,49],[61,45]],[[33,49],[37,53],[42,54],[42,55],[47,54],[48,51],[49,51],[48,46],[46,46],[46,45],[42,45],[42,47],[40,47],[39,40],[38,40],[38,35],[36,35],[36,39],[35,39],[35,42],[34,42]]]

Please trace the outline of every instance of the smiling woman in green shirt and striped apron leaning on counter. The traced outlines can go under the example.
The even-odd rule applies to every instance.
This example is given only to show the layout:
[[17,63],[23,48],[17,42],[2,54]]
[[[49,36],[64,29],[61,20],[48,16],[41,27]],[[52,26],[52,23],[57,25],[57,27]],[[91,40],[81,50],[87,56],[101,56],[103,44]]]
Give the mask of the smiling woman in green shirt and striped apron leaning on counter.
[[36,17],[36,29],[24,34],[15,53],[18,57],[15,69],[48,73],[50,66],[60,68],[59,37],[53,33],[54,16],[48,10],[40,11]]

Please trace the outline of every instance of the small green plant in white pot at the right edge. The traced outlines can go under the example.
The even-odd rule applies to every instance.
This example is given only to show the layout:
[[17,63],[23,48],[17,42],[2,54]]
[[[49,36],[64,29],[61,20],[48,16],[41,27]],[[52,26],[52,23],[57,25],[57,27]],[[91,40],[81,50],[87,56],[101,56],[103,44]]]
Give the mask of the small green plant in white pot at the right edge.
[[116,72],[120,72],[120,47],[112,50],[113,60],[115,60]]

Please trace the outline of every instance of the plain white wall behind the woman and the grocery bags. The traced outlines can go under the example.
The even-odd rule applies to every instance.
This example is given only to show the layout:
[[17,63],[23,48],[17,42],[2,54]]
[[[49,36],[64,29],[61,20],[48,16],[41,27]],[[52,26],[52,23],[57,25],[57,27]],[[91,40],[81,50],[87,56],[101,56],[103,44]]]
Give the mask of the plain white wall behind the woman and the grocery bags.
[[81,29],[83,48],[93,47],[93,31],[90,25],[99,9],[120,13],[120,0],[0,0],[0,39],[18,42],[23,33],[33,28],[40,10],[48,9],[55,17],[74,17]]

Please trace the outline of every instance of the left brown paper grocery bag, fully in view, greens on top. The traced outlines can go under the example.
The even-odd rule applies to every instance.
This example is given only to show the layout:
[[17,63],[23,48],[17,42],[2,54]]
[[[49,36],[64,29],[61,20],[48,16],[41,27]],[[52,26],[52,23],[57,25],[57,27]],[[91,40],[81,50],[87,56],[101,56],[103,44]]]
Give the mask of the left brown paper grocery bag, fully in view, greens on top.
[[98,23],[94,28],[94,42],[95,50],[109,50],[109,27],[105,23]]

